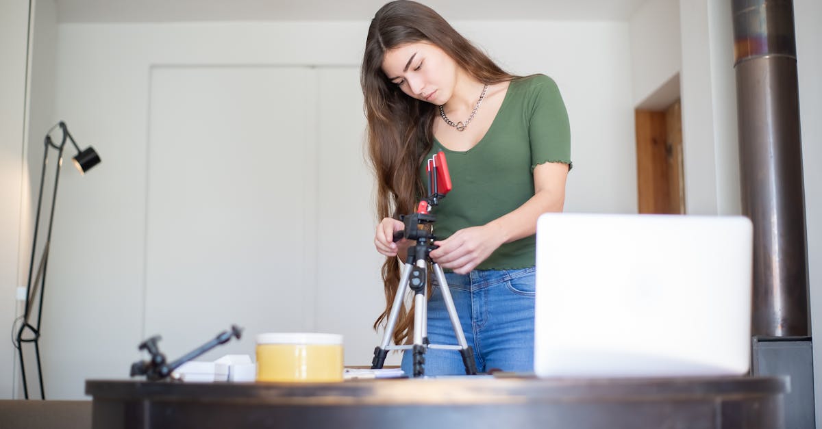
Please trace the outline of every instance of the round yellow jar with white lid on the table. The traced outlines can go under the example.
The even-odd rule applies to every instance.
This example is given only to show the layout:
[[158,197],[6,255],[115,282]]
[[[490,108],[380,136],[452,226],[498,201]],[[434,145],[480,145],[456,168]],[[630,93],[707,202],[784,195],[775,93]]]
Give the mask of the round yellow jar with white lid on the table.
[[259,334],[256,381],[343,381],[343,336]]

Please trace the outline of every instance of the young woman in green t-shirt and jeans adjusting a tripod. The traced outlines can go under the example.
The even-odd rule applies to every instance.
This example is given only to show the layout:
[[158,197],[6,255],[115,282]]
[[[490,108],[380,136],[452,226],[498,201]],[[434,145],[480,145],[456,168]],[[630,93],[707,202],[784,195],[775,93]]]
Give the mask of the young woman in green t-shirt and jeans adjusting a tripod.
[[[446,272],[479,371],[533,371],[537,218],[561,211],[570,170],[565,105],[551,78],[512,76],[431,8],[387,3],[368,29],[361,70],[368,149],[376,172],[374,243],[387,256],[386,321],[412,243],[393,242],[423,190],[422,163],[443,150],[453,190],[436,207],[433,261]],[[441,294],[428,303],[431,344],[455,344]],[[393,333],[411,338],[403,308]],[[402,367],[411,373],[411,353]],[[429,349],[426,375],[464,374],[458,352]]]

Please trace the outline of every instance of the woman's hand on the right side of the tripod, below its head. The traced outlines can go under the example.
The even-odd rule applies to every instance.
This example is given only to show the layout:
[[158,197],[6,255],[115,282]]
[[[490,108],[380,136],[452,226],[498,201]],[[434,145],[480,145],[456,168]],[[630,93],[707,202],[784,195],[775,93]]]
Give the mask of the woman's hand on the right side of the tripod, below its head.
[[505,242],[501,230],[492,224],[460,229],[449,238],[434,242],[438,249],[429,254],[443,268],[468,274]]

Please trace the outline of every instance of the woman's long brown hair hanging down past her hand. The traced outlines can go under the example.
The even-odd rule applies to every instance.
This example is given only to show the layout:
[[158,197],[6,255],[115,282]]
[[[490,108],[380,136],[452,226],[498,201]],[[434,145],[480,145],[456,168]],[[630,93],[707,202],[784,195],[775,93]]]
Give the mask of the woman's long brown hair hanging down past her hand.
[[[417,199],[425,195],[418,168],[433,144],[436,106],[405,95],[382,71],[386,51],[414,42],[435,44],[457,66],[483,83],[495,84],[515,77],[459,35],[430,7],[398,0],[386,3],[376,12],[368,27],[360,83],[368,122],[368,155],[376,175],[378,221],[412,213]],[[399,287],[399,270],[397,258],[386,258],[382,265],[386,309],[374,322],[375,329],[387,322]],[[412,328],[413,311],[403,305],[393,333],[395,344],[409,338]]]

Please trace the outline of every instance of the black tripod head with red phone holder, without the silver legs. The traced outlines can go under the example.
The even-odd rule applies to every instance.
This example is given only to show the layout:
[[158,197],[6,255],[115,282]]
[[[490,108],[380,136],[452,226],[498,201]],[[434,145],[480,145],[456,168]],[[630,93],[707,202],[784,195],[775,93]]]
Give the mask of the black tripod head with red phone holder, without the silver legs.
[[402,238],[420,243],[436,240],[432,231],[433,224],[436,222],[436,215],[432,214],[431,211],[439,204],[441,198],[446,197],[452,188],[445,152],[440,150],[427,160],[427,172],[428,196],[419,202],[416,212],[399,216],[399,219],[405,224],[405,228],[403,231],[394,233],[395,242]]

